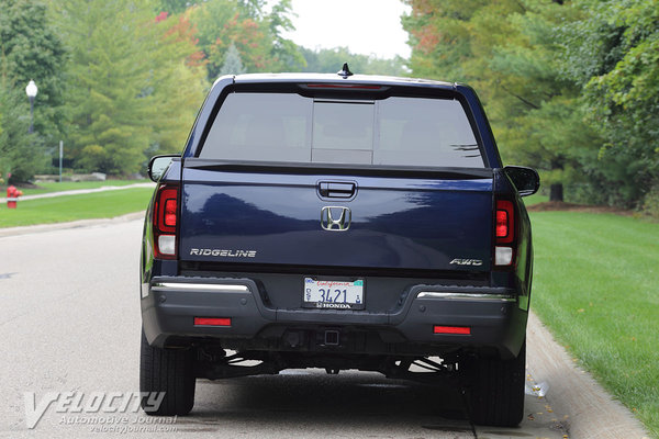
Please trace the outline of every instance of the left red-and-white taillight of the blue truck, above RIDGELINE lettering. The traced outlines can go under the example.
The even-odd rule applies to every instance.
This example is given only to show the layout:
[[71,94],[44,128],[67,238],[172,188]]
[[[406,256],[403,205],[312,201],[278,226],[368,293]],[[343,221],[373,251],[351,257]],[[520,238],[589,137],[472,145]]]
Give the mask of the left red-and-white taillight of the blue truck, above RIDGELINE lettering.
[[154,254],[160,259],[176,259],[178,187],[161,185],[154,202]]

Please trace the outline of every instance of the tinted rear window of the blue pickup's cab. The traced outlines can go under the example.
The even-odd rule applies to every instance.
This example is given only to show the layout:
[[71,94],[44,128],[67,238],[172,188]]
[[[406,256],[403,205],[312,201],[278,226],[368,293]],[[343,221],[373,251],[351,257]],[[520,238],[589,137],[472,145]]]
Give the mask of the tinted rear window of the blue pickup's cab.
[[232,93],[199,157],[484,167],[460,102],[403,97],[347,101],[292,93]]

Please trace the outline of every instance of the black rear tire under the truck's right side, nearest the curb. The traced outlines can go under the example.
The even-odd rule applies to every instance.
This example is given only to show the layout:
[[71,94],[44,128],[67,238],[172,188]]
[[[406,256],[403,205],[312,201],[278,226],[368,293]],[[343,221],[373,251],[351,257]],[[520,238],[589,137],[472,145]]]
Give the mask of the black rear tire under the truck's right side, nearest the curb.
[[524,417],[526,340],[515,359],[468,362],[469,410],[476,425],[515,427]]

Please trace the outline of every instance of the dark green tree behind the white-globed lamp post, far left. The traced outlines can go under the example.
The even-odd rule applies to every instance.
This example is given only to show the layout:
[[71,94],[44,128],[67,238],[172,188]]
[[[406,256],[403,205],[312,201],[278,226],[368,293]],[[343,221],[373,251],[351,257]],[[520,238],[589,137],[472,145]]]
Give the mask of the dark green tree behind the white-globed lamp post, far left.
[[[64,131],[64,45],[48,21],[44,3],[0,0],[0,172],[26,181],[47,166],[45,145]],[[30,110],[25,86],[38,86],[34,134],[27,135]]]

